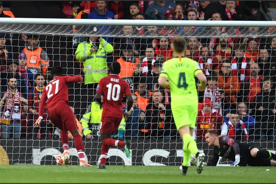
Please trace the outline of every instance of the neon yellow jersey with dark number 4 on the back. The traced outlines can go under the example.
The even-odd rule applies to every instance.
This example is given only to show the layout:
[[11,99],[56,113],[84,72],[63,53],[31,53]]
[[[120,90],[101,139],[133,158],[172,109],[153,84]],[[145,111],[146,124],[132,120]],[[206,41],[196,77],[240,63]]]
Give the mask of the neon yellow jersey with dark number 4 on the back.
[[163,64],[160,77],[169,79],[172,107],[198,104],[194,76],[200,72],[198,63],[189,58],[172,58]]

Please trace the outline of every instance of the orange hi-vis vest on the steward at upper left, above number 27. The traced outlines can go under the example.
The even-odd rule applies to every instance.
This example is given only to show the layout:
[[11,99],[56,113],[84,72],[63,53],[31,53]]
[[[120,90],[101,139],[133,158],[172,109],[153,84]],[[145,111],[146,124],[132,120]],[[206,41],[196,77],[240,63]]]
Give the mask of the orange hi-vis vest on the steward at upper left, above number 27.
[[[28,50],[26,47],[23,52],[27,55],[27,64],[28,68],[33,68],[33,73],[39,73],[42,70],[43,74],[46,74],[47,67],[49,66],[49,61],[45,61],[41,59],[40,54],[42,52],[42,48],[38,47],[35,50]],[[32,70],[32,69],[31,69]]]

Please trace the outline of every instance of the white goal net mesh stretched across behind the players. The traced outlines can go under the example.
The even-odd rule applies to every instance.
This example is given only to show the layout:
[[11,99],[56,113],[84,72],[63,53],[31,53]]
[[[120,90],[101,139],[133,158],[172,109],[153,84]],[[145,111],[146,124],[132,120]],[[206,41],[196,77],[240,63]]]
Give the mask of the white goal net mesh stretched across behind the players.
[[[1,146],[12,164],[56,164],[56,156],[63,152],[58,139],[59,129],[53,125],[54,122],[47,120],[40,128],[33,128],[40,91],[34,88],[37,80],[33,80],[32,74],[43,73],[46,85],[52,79],[47,70],[53,66],[62,66],[67,75],[85,76],[88,69],[92,68],[93,74],[95,70],[107,70],[117,60],[123,66],[121,77],[129,83],[133,96],[138,96],[139,102],[138,107],[134,107],[131,120],[120,124],[118,134],[114,135],[115,139],[131,140],[131,157],[126,158],[122,150],[114,148],[109,151],[107,164],[180,165],[183,144],[171,112],[170,91],[156,85],[162,63],[173,57],[171,42],[176,35],[187,39],[186,57],[196,60],[209,79],[206,90],[198,92],[199,111],[194,137],[200,151],[208,159],[212,157],[212,149],[203,136],[207,129],[217,129],[218,134],[255,142],[275,153],[274,28],[0,24],[0,32],[5,36],[0,38],[1,99],[9,90],[11,73],[15,73],[12,75],[18,83],[18,92],[27,100],[26,107],[16,107],[14,101],[17,99],[10,95],[10,100],[14,99],[12,103],[3,100],[1,104]],[[39,52],[31,50],[28,37],[34,41],[37,39],[29,34],[39,35],[38,45],[34,43],[34,47],[41,48]],[[103,50],[98,49],[95,53],[95,58],[100,59],[93,60],[93,57],[83,54],[91,48],[91,45],[89,49],[81,46],[84,45],[82,42],[89,43],[87,36],[102,37],[110,43],[113,51],[107,52],[101,47]],[[95,39],[94,44],[101,44]],[[24,60],[22,53],[26,53],[26,67],[21,63]],[[18,60],[18,57],[21,59]],[[14,59],[20,66],[14,69],[9,59]],[[229,61],[225,63],[225,60]],[[100,63],[97,67],[94,67],[95,61]],[[46,67],[48,64],[49,67]],[[85,158],[92,164],[99,162],[101,148],[101,112],[93,103],[96,87],[92,82],[69,85],[69,104],[80,121],[79,127],[82,127]],[[147,93],[144,93],[145,89]],[[155,94],[160,96],[157,107],[150,97],[154,90],[161,91],[160,95]],[[203,102],[206,99],[212,101],[211,114],[205,109],[207,101]],[[123,107],[125,102],[124,99]],[[7,105],[9,107],[6,108]],[[94,139],[90,139],[92,136],[87,136],[87,132]],[[72,146],[73,140],[70,139],[69,147]],[[77,151],[74,148],[69,151],[73,156],[72,164],[77,164]],[[1,161],[7,163],[6,159]],[[224,158],[218,163],[228,164]]]

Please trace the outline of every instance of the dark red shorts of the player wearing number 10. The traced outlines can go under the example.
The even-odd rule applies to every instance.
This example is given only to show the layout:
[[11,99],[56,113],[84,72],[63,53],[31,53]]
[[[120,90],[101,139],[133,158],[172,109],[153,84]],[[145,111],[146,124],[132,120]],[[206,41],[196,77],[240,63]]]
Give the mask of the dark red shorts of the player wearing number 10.
[[100,133],[113,133],[118,129],[122,118],[102,117],[101,121],[102,122],[100,124]]

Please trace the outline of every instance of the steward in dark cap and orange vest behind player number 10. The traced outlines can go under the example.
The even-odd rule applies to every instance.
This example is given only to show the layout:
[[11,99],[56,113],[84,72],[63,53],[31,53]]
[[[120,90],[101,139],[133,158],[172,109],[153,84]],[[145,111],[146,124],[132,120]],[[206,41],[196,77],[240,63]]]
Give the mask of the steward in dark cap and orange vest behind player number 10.
[[133,72],[139,63],[139,59],[134,57],[133,53],[132,45],[124,44],[122,45],[123,57],[117,59],[117,62],[121,65],[120,78],[129,83],[131,90],[133,90]]

